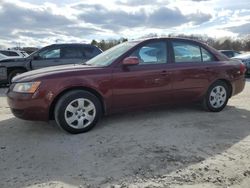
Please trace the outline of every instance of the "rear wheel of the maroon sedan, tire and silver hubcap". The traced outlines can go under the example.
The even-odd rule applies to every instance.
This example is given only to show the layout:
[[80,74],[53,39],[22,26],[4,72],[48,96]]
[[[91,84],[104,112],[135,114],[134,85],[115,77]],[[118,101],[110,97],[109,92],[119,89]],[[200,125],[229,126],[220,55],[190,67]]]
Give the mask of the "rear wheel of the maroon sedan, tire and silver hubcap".
[[228,98],[228,85],[223,81],[216,81],[209,87],[203,99],[203,107],[207,111],[220,112],[227,105]]

